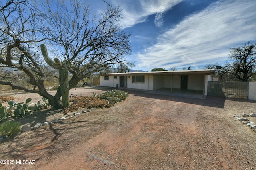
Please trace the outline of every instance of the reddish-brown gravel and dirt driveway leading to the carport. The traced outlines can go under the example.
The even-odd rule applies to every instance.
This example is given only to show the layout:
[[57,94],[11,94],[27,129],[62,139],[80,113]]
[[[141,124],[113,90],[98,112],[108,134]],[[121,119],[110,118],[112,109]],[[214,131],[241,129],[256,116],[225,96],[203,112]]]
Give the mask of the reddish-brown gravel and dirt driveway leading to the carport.
[[[76,88],[71,93],[91,96],[104,90]],[[256,133],[232,116],[256,112],[255,102],[125,91],[129,97],[113,107],[0,141],[2,160],[15,161],[0,169],[256,169]],[[41,98],[28,93],[12,96],[23,101]],[[30,122],[19,121],[32,126],[63,116],[69,115],[48,109],[30,115]],[[34,164],[17,164],[17,160],[34,160]]]

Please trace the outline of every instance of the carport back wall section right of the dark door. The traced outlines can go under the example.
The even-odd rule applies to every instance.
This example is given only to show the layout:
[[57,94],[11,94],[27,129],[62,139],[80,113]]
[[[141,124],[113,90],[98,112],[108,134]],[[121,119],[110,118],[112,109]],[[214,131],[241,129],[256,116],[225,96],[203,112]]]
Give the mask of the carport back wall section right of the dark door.
[[189,90],[204,90],[204,75],[188,75]]

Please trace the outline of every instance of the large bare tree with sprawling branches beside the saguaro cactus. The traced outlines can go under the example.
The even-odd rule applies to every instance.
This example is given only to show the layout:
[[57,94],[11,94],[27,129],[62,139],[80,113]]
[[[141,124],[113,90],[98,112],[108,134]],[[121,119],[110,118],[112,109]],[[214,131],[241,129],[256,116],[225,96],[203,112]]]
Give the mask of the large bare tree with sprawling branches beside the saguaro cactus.
[[130,33],[125,33],[118,24],[121,17],[119,7],[106,3],[106,10],[96,16],[91,14],[89,4],[78,0],[42,0],[34,3],[38,4],[24,0],[0,6],[3,9],[1,24],[4,25],[0,27],[3,42],[0,45],[4,49],[0,63],[9,72],[22,72],[38,90],[6,79],[2,79],[0,84],[38,93],[48,98],[52,106],[62,108],[61,88],[54,96],[45,90],[44,81],[54,75],[41,69],[46,62],[39,51],[40,43],[46,44],[49,57],[54,56],[66,64],[72,75],[68,80],[69,89],[93,72],[99,72],[111,64],[126,63],[125,57],[131,52]]

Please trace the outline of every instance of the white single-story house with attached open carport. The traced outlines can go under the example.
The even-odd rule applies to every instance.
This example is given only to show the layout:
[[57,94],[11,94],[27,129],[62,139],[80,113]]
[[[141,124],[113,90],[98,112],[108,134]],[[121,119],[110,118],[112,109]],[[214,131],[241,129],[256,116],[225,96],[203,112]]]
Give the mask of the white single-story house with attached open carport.
[[143,91],[168,89],[170,93],[178,89],[200,92],[204,97],[214,73],[214,69],[108,73],[100,74],[100,86]]

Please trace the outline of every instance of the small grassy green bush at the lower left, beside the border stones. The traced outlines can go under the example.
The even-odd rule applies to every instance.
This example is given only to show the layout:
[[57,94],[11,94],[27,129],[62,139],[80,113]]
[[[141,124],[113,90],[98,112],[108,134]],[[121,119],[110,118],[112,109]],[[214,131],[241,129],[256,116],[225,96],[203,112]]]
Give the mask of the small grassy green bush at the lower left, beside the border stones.
[[0,127],[0,134],[9,137],[20,131],[21,123],[18,121],[6,121]]

